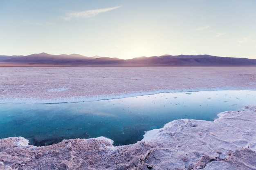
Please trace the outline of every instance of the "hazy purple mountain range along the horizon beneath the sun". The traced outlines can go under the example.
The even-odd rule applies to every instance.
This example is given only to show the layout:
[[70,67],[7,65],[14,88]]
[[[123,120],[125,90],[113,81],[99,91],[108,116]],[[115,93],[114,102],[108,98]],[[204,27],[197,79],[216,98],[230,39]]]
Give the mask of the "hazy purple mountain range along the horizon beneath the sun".
[[0,55],[0,62],[64,66],[256,66],[256,59],[212,55],[161,55],[159,57],[136,57],[124,60],[97,55],[86,57],[79,54],[51,55],[40,53],[27,56]]

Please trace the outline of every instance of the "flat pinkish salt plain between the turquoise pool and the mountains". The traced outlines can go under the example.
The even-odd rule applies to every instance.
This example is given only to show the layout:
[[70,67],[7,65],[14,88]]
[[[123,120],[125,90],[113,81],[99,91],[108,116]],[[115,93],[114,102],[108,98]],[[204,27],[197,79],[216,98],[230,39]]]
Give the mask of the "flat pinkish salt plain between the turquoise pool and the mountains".
[[78,102],[175,91],[256,90],[256,67],[0,67],[0,101]]

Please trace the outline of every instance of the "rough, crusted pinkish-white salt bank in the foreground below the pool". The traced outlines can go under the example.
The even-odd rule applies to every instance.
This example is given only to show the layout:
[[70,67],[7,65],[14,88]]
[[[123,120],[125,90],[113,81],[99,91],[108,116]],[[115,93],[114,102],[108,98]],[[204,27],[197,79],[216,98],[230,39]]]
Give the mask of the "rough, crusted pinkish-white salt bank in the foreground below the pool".
[[256,169],[256,106],[218,116],[171,121],[128,146],[104,137],[42,147],[22,137],[0,139],[0,170]]

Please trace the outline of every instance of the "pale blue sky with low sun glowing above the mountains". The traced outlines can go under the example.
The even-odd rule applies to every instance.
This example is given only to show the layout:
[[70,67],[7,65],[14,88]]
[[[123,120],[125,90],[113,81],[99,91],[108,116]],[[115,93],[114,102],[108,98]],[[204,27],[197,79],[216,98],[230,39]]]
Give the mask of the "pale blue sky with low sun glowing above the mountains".
[[0,55],[256,59],[256,0],[0,0]]

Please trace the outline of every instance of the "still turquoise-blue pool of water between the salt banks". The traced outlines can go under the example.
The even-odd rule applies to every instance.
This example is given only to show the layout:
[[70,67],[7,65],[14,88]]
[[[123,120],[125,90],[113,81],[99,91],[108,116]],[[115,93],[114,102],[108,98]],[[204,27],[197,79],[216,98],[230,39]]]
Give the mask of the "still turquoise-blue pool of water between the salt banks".
[[93,102],[0,104],[0,138],[22,136],[44,146],[63,139],[104,136],[115,146],[143,139],[145,131],[175,119],[213,121],[226,110],[256,105],[256,91],[158,93]]

